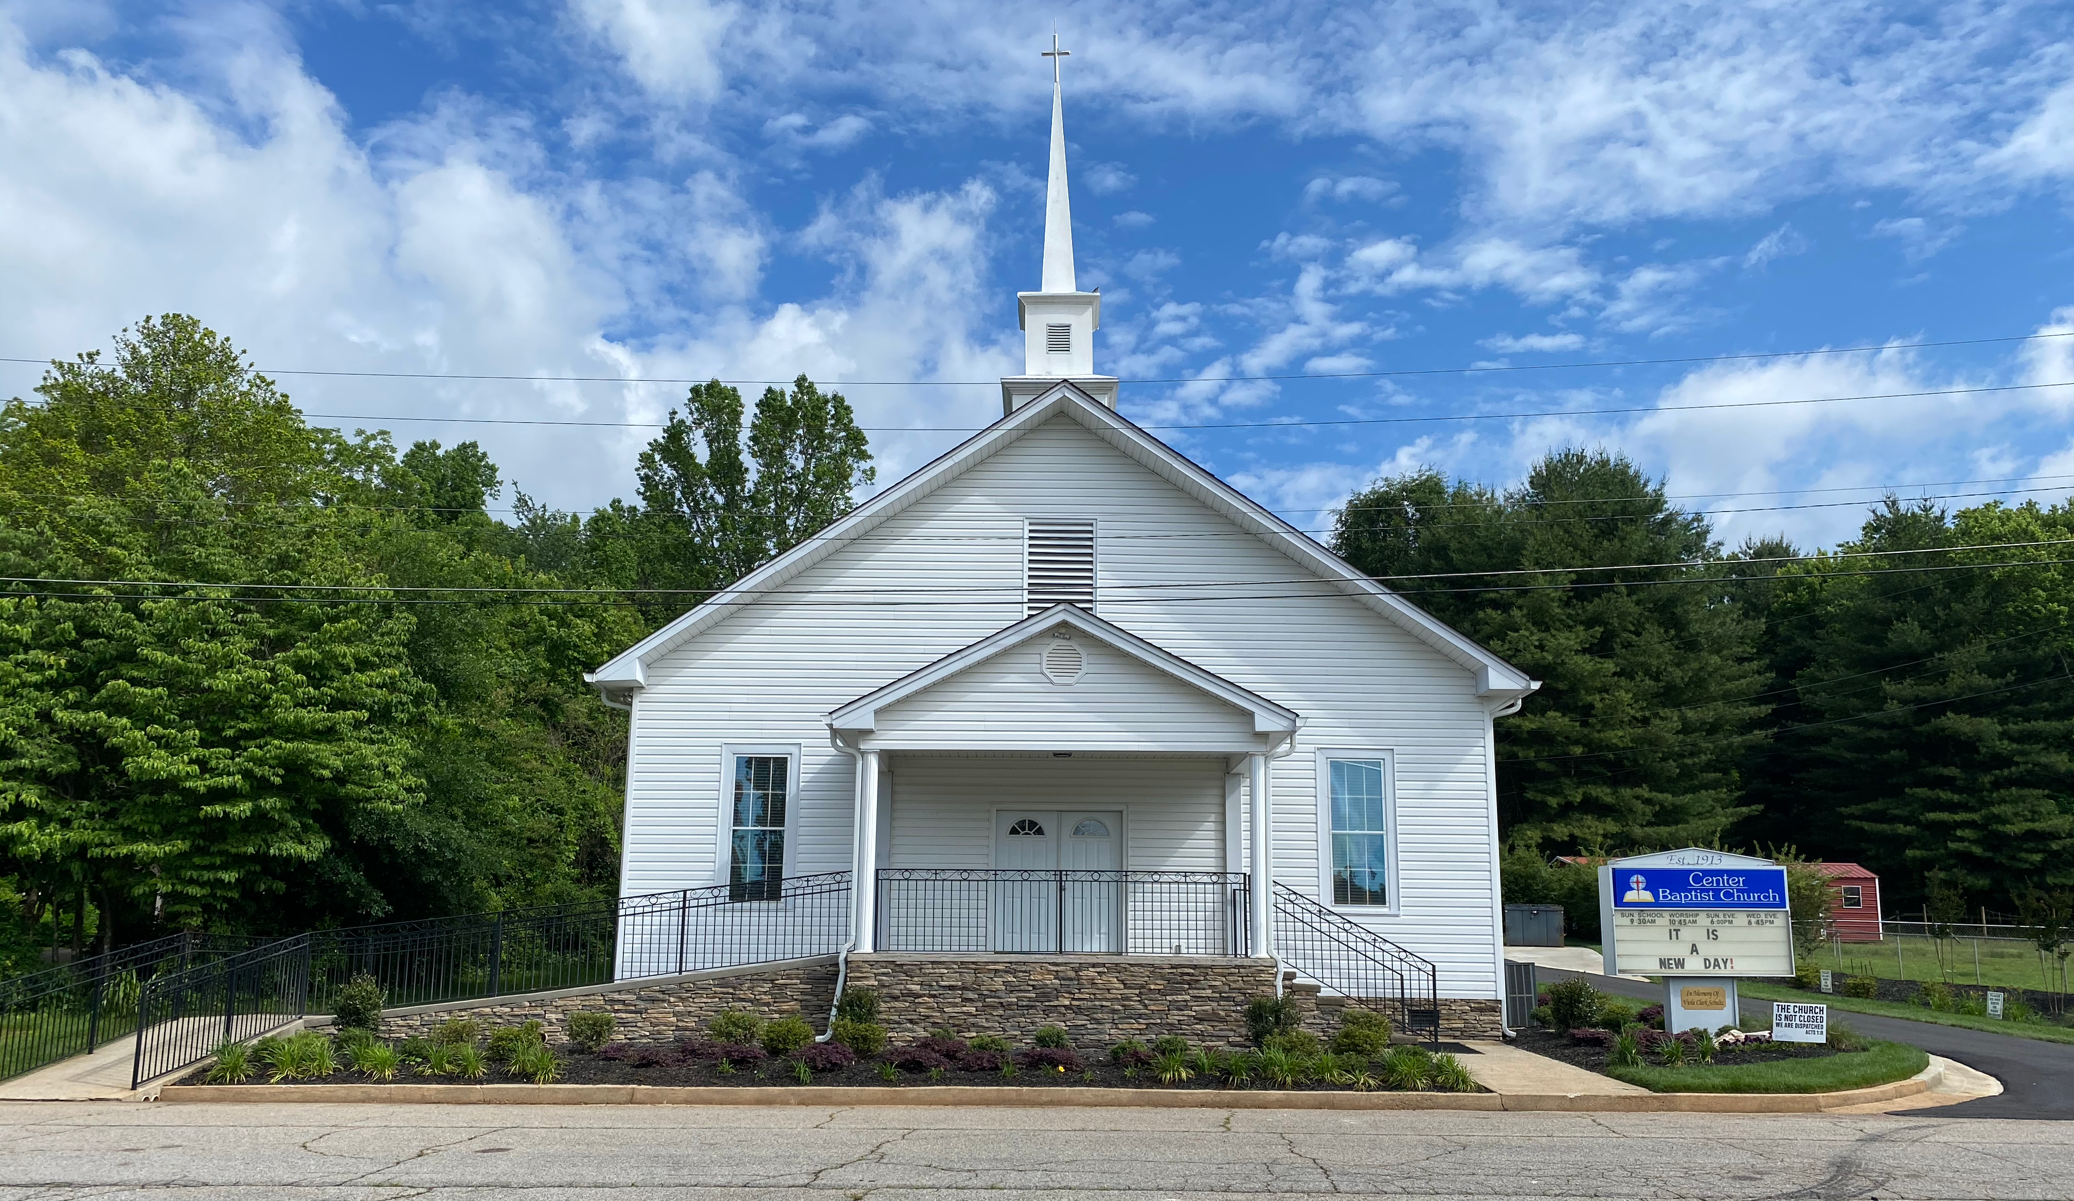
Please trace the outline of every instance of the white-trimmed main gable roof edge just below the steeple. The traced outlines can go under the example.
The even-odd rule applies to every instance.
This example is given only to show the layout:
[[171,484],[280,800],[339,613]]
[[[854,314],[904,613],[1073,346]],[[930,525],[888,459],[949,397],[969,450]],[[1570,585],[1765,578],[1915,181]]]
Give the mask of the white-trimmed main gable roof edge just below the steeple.
[[1282,521],[1230,483],[1195,465],[1186,454],[1139,429],[1128,419],[1076,388],[1070,380],[1060,380],[1058,386],[1037,400],[1031,400],[993,425],[987,425],[973,438],[966,438],[933,463],[859,504],[821,533],[745,575],[726,591],[713,595],[699,608],[680,614],[670,624],[626,647],[614,655],[612,662],[595,672],[587,672],[583,678],[606,695],[645,687],[647,664],[655,658],[668,653],[672,647],[684,643],[699,631],[728,618],[736,610],[757,604],[757,597],[763,591],[821,562],[832,552],[848,546],[852,537],[859,537],[881,521],[906,510],[915,502],[933,494],[937,487],[962,475],[973,465],[993,456],[1054,417],[1068,417],[1081,423],[1091,434],[1137,460],[1141,467],[1149,469],[1153,475],[1159,475],[1186,496],[1195,498],[1199,504],[1267,541],[1302,566],[1315,570],[1321,581],[1338,585],[1340,593],[1367,604],[1392,622],[1400,624],[1421,643],[1473,672],[1477,676],[1479,697],[1512,701],[1541,687],[1539,680],[1529,678],[1526,672],[1483,649],[1448,622],[1441,622],[1433,614],[1400,597],[1396,591],[1361,575],[1352,564],[1305,537],[1296,527]]

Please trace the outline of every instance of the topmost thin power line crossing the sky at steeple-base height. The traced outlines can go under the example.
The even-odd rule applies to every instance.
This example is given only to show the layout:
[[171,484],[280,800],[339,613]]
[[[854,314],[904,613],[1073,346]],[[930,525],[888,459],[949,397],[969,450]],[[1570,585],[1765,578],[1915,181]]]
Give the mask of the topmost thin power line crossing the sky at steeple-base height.
[[[1881,351],[1931,351],[1941,346],[1991,346],[2068,338],[2070,332],[2012,334],[2006,338],[1954,338],[1945,342],[1885,342],[1879,346],[1817,346],[1811,351],[1750,351],[1742,355],[1686,355],[1676,359],[1593,359],[1578,363],[1470,363],[1468,367],[1402,367],[1394,371],[1296,371],[1286,375],[1170,375],[1118,380],[1118,384],[1271,384],[1288,380],[1390,380],[1408,375],[1487,375],[1500,371],[1576,371],[1597,367],[1667,367],[1686,363],[1742,363],[1755,359],[1802,359],[1809,355],[1869,355]],[[62,363],[62,359],[0,357],[0,363]],[[73,363],[66,363],[73,365]],[[317,371],[295,367],[253,367],[261,375],[317,375],[346,380],[489,380],[514,384],[707,384],[711,375],[496,375],[460,371]],[[728,386],[786,388],[792,380],[718,380]],[[830,388],[996,388],[1000,380],[830,380]]]

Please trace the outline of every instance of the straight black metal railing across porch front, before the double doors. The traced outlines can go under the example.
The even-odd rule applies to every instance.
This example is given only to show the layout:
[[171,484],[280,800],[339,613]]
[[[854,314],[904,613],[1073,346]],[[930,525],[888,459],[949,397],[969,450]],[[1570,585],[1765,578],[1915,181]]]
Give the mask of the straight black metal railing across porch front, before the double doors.
[[877,877],[879,950],[1249,954],[1240,871],[881,867]]

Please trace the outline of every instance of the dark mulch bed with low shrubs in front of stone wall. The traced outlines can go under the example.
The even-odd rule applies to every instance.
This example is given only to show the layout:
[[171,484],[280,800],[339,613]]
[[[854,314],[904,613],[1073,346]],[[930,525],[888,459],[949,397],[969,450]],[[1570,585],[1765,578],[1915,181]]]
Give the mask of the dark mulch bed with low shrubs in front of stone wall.
[[[1429,1050],[1431,1043],[1423,1043]],[[1238,1050],[1238,1048],[1232,1048]],[[1477,1052],[1462,1043],[1439,1043],[1444,1054],[1473,1056]],[[859,1062],[844,1068],[832,1068],[825,1072],[813,1072],[811,1081],[801,1081],[790,1066],[790,1060],[772,1058],[761,1064],[745,1064],[734,1072],[722,1072],[720,1064],[713,1060],[703,1060],[682,1052],[672,1043],[612,1043],[601,1052],[585,1052],[570,1043],[558,1043],[554,1048],[556,1060],[562,1062],[562,1074],[556,1077],[558,1085],[668,1085],[668,1087],[722,1087],[722,1089],[792,1089],[801,1085],[813,1087],[931,1087],[931,1085],[989,1085],[989,1087],[1022,1087],[1022,1089],[1226,1089],[1222,1081],[1195,1077],[1176,1085],[1161,1085],[1147,1068],[1139,1068],[1137,1074],[1126,1077],[1124,1068],[1108,1062],[1108,1056],[1085,1056],[1083,1070],[1049,1070],[1049,1068],[1018,1068],[1016,1074],[1004,1077],[1000,1070],[964,1070],[958,1066],[944,1068],[940,1077],[931,1079],[929,1072],[908,1072],[896,1070],[892,1081],[879,1074],[879,1062]],[[1603,1056],[1601,1056],[1603,1058]],[[178,1085],[201,1085],[207,1074],[207,1064],[178,1081]],[[255,1072],[245,1085],[265,1085],[265,1072]],[[489,1074],[481,1081],[465,1081],[460,1077],[419,1077],[398,1072],[394,1081],[373,1081],[361,1072],[334,1072],[330,1077],[305,1079],[305,1081],[280,1081],[284,1085],[523,1085],[529,1083],[523,1077],[510,1077],[502,1068],[492,1066]],[[236,1087],[236,1085],[232,1085]],[[1246,1089],[1282,1089],[1282,1085],[1269,1085],[1255,1077]],[[1315,1093],[1338,1093],[1346,1091],[1340,1085],[1294,1085],[1288,1091],[1315,1091]]]

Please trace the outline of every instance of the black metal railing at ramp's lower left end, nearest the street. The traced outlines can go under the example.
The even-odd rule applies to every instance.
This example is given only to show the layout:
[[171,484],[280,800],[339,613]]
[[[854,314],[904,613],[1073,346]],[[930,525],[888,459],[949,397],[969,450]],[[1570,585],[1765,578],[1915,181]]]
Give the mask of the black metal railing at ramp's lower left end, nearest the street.
[[307,933],[187,971],[160,973],[145,981],[137,1000],[131,1089],[191,1068],[228,1041],[255,1039],[299,1023],[307,1002]]

